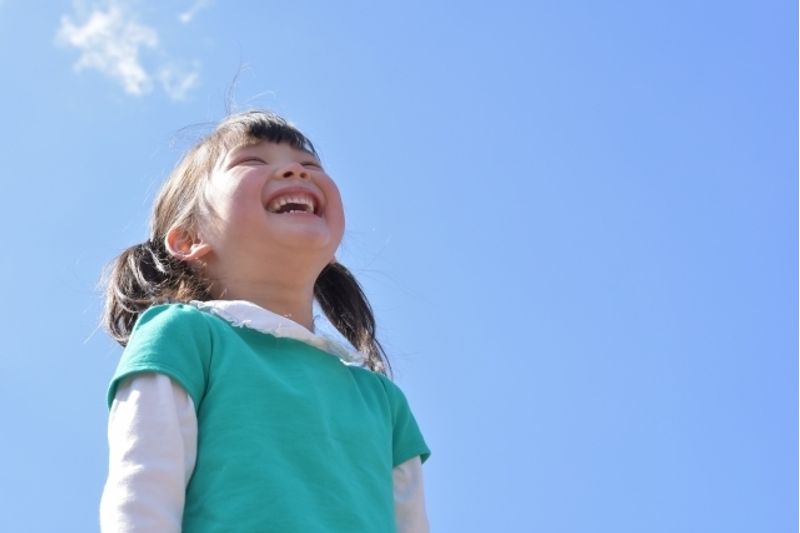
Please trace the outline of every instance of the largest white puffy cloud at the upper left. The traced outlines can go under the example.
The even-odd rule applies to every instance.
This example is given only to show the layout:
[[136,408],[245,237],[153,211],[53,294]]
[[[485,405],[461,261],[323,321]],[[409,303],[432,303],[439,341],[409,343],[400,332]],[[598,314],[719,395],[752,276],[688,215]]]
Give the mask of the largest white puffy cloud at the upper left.
[[82,26],[61,17],[56,40],[81,51],[75,69],[95,69],[122,84],[128,94],[150,91],[152,80],[139,59],[142,48],[155,49],[158,33],[140,24],[121,4],[112,2],[106,11],[95,9]]

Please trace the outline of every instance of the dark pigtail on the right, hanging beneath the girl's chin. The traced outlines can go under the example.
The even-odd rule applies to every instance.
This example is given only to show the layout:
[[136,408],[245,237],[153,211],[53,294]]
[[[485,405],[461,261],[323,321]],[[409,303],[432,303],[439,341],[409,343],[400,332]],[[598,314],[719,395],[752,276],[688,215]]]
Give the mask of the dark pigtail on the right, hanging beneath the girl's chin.
[[375,337],[372,306],[353,274],[340,263],[327,265],[314,285],[314,296],[331,324],[366,356],[367,368],[389,374],[389,360]]

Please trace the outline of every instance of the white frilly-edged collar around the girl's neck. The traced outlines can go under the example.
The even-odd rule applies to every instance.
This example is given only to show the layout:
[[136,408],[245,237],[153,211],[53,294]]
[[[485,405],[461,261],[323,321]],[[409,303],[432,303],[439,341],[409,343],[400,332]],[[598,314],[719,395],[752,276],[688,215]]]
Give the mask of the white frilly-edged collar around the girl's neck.
[[364,358],[360,353],[348,349],[337,340],[309,331],[294,320],[273,313],[253,302],[246,300],[208,300],[205,302],[192,300],[189,303],[198,309],[217,315],[233,326],[254,329],[273,337],[298,340],[333,354],[349,364],[363,363]]

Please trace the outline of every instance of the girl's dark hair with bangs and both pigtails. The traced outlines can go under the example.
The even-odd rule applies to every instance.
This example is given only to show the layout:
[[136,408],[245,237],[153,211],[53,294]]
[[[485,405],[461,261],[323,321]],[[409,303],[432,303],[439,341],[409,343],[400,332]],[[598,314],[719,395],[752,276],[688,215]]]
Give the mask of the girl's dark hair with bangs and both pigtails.
[[[212,299],[209,281],[172,256],[164,239],[172,227],[197,227],[205,183],[228,151],[265,140],[317,155],[311,141],[285,119],[270,112],[247,111],[225,118],[169,175],[153,207],[150,238],[122,252],[108,275],[103,325],[121,345],[127,344],[136,320],[147,308]],[[326,266],[316,280],[314,296],[331,324],[363,354],[364,366],[388,374],[388,359],[375,336],[372,307],[350,271],[337,262]]]

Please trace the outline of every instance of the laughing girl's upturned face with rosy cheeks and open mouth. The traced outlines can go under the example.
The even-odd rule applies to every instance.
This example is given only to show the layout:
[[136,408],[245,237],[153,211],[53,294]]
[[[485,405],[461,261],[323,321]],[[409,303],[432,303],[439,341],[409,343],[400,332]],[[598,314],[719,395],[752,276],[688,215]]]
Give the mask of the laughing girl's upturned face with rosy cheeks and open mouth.
[[231,150],[206,197],[212,212],[201,233],[225,270],[216,273],[221,277],[263,275],[265,265],[276,264],[318,273],[344,232],[336,184],[314,155],[289,144],[262,141]]

